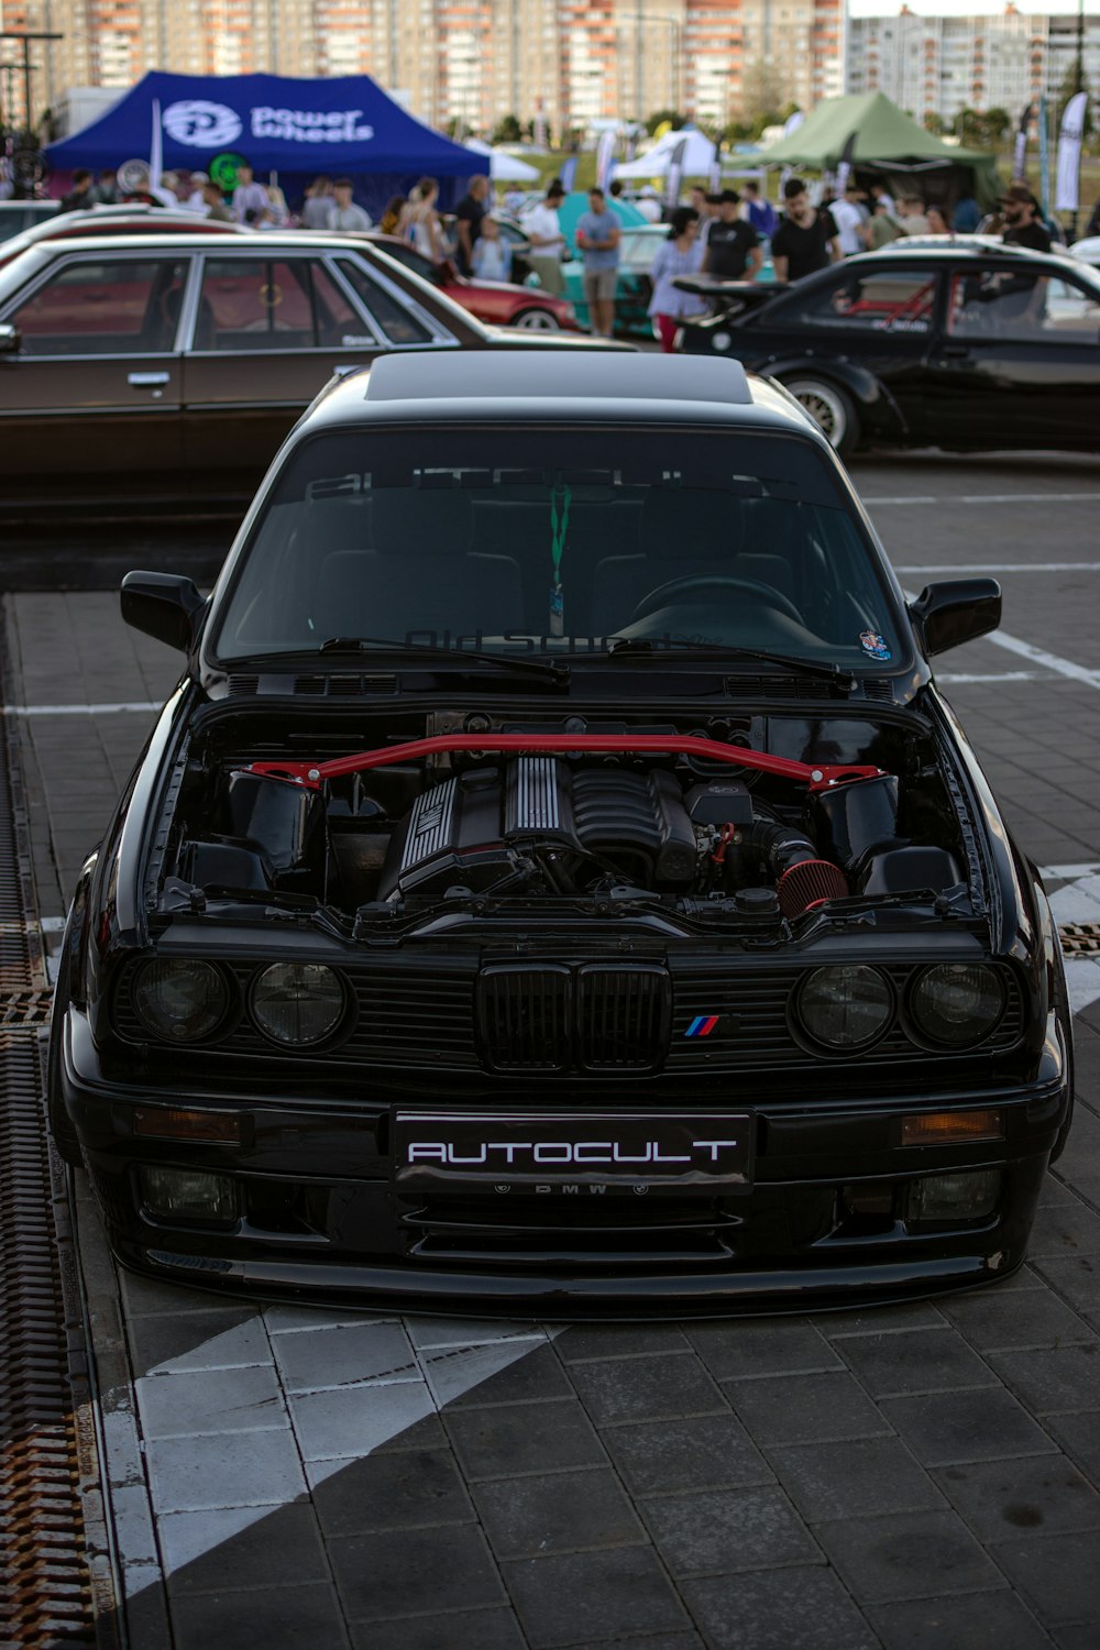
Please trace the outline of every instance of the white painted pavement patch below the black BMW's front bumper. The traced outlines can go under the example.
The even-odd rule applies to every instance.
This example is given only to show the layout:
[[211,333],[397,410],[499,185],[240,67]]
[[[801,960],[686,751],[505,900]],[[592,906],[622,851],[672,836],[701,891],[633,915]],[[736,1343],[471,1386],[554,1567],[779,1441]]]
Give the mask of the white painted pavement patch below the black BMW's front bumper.
[[[139,1376],[163,1574],[303,1498],[561,1330],[267,1307]],[[333,1379],[323,1371],[335,1366]],[[148,1558],[124,1551],[122,1564],[127,1597],[160,1581],[162,1564]]]

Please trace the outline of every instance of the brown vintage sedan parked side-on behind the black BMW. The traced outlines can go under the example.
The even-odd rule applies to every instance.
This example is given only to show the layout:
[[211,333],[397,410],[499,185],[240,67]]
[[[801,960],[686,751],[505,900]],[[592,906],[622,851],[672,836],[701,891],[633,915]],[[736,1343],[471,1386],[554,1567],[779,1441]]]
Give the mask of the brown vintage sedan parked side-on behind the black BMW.
[[213,243],[43,241],[0,269],[8,518],[247,500],[323,384],[393,350],[622,348],[485,327],[361,241],[272,231]]

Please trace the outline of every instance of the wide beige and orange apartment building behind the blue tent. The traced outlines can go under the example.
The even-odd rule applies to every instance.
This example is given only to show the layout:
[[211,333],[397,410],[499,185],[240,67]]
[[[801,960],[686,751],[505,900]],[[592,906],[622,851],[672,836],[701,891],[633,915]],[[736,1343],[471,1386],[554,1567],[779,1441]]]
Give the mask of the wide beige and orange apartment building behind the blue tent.
[[726,124],[764,86],[811,107],[844,81],[846,0],[0,0],[0,20],[64,35],[35,48],[36,112],[147,69],[368,73],[432,125],[541,109],[561,132],[655,109]]

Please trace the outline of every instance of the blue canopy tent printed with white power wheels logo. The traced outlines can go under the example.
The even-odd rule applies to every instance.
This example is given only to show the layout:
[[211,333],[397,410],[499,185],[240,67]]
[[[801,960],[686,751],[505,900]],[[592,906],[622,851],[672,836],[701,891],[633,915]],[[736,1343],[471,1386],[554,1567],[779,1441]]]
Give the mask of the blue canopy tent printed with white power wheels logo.
[[219,153],[247,160],[257,177],[279,173],[289,200],[318,173],[350,177],[356,198],[374,216],[391,195],[421,177],[439,178],[440,205],[454,205],[473,173],[488,173],[477,155],[407,114],[368,74],[299,81],[280,74],[160,74],[137,82],[82,132],[46,147],[54,172],[119,167],[147,157],[153,104],[160,104],[163,165],[208,170]]

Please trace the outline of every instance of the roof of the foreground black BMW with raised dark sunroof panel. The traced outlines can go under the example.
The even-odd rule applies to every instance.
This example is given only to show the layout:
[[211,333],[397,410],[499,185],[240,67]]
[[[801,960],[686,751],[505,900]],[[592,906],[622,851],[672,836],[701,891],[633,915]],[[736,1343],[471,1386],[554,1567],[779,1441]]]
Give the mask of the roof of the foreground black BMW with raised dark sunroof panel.
[[704,355],[589,355],[407,351],[384,355],[369,373],[331,384],[299,426],[346,427],[366,421],[736,424],[798,434],[828,449],[816,424],[782,388],[745,373],[740,361]]

